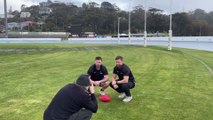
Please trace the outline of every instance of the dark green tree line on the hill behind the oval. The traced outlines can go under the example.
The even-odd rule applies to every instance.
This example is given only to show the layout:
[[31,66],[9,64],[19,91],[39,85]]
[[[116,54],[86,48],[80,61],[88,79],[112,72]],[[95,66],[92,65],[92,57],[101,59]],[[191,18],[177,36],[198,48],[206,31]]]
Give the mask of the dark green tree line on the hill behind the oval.
[[[51,14],[40,15],[39,6],[26,7],[24,11],[31,13],[29,18],[20,18],[19,11],[13,11],[14,18],[9,22],[21,22],[31,20],[43,24],[33,24],[28,27],[30,31],[69,31],[71,25],[80,24],[82,31],[95,32],[96,34],[116,34],[117,22],[120,17],[120,33],[128,33],[129,12],[121,10],[116,4],[110,2],[83,3],[82,6],[65,3],[52,3],[49,6]],[[144,7],[136,6],[131,11],[131,32],[143,33],[144,31]],[[3,19],[0,21],[3,24]],[[157,8],[149,8],[147,11],[147,32],[167,33],[169,30],[169,15]],[[205,12],[196,9],[190,12],[178,12],[173,14],[173,34],[175,36],[211,36],[213,35],[213,11]]]

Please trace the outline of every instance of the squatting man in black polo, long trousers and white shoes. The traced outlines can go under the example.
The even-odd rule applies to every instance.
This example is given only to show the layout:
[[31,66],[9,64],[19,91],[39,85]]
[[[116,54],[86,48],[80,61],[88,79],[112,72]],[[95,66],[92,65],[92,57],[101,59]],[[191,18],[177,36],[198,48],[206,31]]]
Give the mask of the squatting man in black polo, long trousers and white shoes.
[[[117,56],[115,58],[116,66],[113,70],[112,82],[110,87],[116,90],[120,95],[119,98],[123,99],[124,102],[129,102],[132,100],[130,89],[135,87],[135,79],[132,75],[129,67],[124,64],[123,57]],[[118,80],[116,77],[118,76]]]

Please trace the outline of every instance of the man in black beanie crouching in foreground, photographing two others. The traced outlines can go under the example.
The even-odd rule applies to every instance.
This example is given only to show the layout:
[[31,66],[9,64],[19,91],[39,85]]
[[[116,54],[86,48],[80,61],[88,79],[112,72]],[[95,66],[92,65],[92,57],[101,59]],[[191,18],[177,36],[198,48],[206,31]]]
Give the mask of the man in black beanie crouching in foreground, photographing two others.
[[88,75],[81,75],[76,84],[64,86],[44,112],[44,120],[90,120],[98,104]]

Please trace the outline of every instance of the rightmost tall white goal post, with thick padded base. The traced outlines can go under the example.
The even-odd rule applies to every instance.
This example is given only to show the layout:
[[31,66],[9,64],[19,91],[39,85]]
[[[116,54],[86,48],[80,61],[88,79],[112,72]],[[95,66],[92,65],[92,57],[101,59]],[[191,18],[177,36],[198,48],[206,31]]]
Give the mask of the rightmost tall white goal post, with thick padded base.
[[168,50],[172,50],[172,0],[170,0],[170,24],[169,24],[169,45]]

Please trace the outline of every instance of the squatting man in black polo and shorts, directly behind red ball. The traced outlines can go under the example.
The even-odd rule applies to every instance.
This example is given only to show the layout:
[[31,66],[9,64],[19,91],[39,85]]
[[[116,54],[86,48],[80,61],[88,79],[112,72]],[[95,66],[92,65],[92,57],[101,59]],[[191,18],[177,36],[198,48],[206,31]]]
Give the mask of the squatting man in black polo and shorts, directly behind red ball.
[[104,90],[109,86],[109,77],[106,67],[102,64],[102,58],[96,57],[95,64],[88,69],[88,75],[90,75],[90,81],[95,86],[100,86],[101,95],[105,95]]

